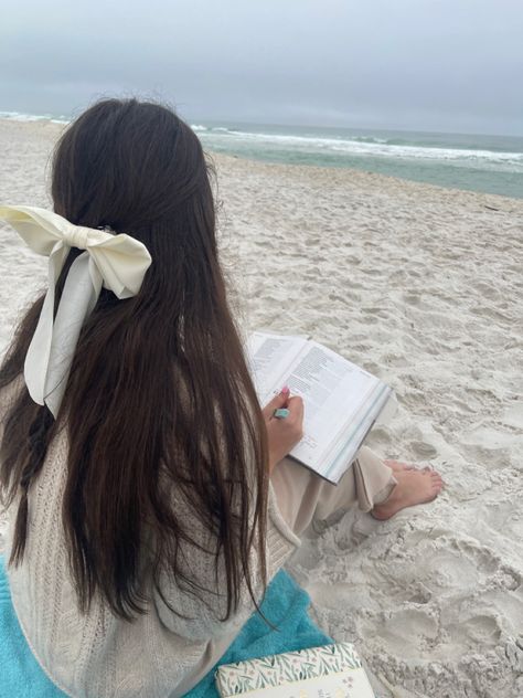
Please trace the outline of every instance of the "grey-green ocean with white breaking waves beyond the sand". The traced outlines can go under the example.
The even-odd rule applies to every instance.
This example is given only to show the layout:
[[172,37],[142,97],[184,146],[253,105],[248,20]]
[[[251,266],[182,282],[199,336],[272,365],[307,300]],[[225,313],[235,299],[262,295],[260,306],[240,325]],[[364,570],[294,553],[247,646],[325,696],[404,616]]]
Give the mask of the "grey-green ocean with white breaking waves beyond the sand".
[[[0,112],[0,118],[67,120],[14,112]],[[230,121],[191,126],[203,147],[217,152],[268,162],[352,168],[523,199],[523,137]]]

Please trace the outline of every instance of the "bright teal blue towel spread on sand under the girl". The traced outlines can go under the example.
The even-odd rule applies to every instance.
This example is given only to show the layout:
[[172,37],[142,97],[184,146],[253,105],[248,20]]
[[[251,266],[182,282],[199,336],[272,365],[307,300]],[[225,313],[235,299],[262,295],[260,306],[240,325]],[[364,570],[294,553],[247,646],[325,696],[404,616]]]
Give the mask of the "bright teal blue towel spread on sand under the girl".
[[[185,698],[216,698],[214,673],[231,664],[279,652],[325,645],[332,639],[310,620],[310,599],[285,571],[267,588],[262,611],[277,626],[271,628],[254,613],[227,652]],[[47,678],[25,642],[9,592],[3,558],[0,556],[0,698],[63,698],[65,694]]]

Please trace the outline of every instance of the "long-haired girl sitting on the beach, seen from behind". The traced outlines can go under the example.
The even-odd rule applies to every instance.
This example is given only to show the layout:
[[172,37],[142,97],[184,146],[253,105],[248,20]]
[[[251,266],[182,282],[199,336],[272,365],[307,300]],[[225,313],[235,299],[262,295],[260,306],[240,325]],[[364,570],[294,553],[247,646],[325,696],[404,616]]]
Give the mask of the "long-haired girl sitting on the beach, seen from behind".
[[52,198],[54,213],[0,209],[50,256],[0,370],[13,604],[65,692],[181,696],[313,519],[355,503],[388,518],[441,480],[363,448],[333,487],[285,458],[303,405],[286,389],[258,405],[209,166],[171,110],[89,108],[57,146]]

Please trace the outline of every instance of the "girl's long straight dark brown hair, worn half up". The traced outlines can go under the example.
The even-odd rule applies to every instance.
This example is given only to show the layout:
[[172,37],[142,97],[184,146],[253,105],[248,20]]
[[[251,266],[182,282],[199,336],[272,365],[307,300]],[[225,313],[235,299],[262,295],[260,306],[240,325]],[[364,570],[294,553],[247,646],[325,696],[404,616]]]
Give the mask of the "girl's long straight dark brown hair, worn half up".
[[[183,544],[201,546],[180,512],[183,501],[215,540],[226,620],[243,584],[254,599],[253,546],[266,580],[267,444],[227,305],[200,141],[163,106],[100,102],[62,136],[52,197],[56,213],[75,224],[108,225],[140,240],[152,265],[136,297],[118,300],[102,290],[57,420],[24,387],[7,412],[0,488],[6,505],[20,498],[10,562],[24,556],[29,489],[53,436],[66,429],[62,520],[81,609],[99,593],[120,617],[142,612],[145,563],[158,589],[167,570],[199,595],[201,580],[180,562]],[[78,254],[68,254],[56,306]],[[23,373],[42,303],[18,327],[0,389]]]

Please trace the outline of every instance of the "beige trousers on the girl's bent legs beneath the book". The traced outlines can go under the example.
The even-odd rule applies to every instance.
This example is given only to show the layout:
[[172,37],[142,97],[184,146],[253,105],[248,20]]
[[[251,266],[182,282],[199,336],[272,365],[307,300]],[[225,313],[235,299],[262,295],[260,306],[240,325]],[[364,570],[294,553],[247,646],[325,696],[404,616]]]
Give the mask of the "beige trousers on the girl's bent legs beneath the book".
[[366,446],[360,448],[338,485],[331,485],[291,458],[275,467],[270,482],[281,516],[297,536],[316,521],[324,521],[355,505],[362,511],[370,511],[385,501],[397,484],[393,470]]

